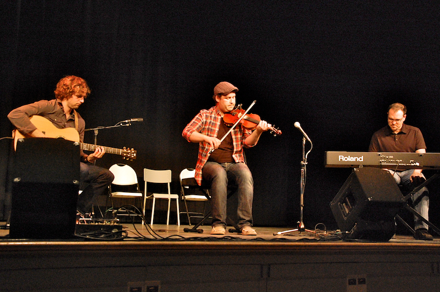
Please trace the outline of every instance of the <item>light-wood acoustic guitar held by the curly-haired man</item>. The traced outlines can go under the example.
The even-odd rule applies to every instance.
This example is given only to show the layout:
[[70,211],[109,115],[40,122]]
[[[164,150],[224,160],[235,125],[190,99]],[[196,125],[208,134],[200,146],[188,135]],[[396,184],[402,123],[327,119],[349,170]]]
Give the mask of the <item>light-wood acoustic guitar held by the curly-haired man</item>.
[[[58,129],[51,121],[41,115],[33,115],[30,117],[32,124],[37,127],[38,130],[44,133],[48,138],[63,138],[69,141],[78,142],[81,150],[95,151],[96,147],[102,147],[106,153],[121,155],[124,159],[136,159],[136,150],[133,148],[117,149],[107,146],[99,146],[95,144],[81,143],[78,131],[75,128]],[[17,141],[21,138],[29,138],[29,135],[23,135],[20,131],[14,130],[14,149],[17,147]]]

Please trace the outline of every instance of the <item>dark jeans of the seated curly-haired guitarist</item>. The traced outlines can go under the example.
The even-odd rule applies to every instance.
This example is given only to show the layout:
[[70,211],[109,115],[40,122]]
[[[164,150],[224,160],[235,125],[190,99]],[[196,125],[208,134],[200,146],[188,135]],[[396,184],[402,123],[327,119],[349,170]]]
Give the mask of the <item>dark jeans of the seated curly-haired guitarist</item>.
[[78,196],[77,208],[82,212],[89,212],[98,196],[109,191],[109,185],[114,176],[110,170],[96,165],[80,162],[80,182],[88,186]]

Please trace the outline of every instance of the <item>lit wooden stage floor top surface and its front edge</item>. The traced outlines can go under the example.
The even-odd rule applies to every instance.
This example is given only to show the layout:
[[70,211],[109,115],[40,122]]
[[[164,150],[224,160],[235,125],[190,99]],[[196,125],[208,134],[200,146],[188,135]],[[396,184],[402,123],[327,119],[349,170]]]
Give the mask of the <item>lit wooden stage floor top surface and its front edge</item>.
[[[0,223],[0,226],[5,226],[6,223]],[[241,242],[241,244],[245,243],[259,243],[259,244],[274,244],[274,243],[295,243],[296,245],[299,243],[326,243],[327,245],[330,243],[334,244],[386,244],[386,245],[427,245],[427,246],[438,246],[440,247],[440,237],[434,233],[433,241],[421,241],[416,240],[410,235],[395,235],[387,242],[375,242],[370,240],[350,240],[344,241],[342,239],[342,235],[338,230],[320,230],[316,229],[313,232],[303,231],[292,231],[293,229],[287,227],[255,227],[257,231],[256,236],[245,236],[241,235],[237,232],[233,232],[234,229],[232,226],[228,226],[226,228],[225,235],[211,235],[211,226],[210,225],[202,225],[198,227],[198,230],[202,230],[202,233],[199,232],[185,232],[184,229],[190,229],[194,225],[163,225],[163,224],[154,224],[154,225],[141,225],[141,224],[131,224],[131,223],[122,223],[117,225],[104,225],[102,228],[104,231],[101,231],[100,227],[103,225],[101,223],[87,225],[77,225],[76,237],[71,240],[47,240],[50,242],[66,242],[66,244],[71,242],[82,242],[82,241],[97,241],[97,242],[105,242],[105,241],[120,241],[120,242],[151,242],[154,241],[156,244],[160,244],[160,242],[185,242],[188,245],[192,243],[198,243],[198,245],[202,242],[223,242],[223,243],[233,243],[233,242]],[[95,227],[95,228],[88,228]],[[114,228],[113,228],[114,227]],[[118,228],[116,228],[118,227]],[[294,227],[292,227],[294,228]],[[96,230],[97,229],[97,230]],[[112,230],[113,229],[113,230]],[[118,230],[117,230],[118,229]],[[111,232],[113,231],[113,232]],[[119,231],[119,232],[116,232]],[[22,243],[26,242],[27,245],[32,244],[33,242],[44,242],[43,239],[33,240],[33,239],[10,239],[9,238],[9,229],[0,229],[0,247],[7,244],[8,246],[14,245],[15,242]]]

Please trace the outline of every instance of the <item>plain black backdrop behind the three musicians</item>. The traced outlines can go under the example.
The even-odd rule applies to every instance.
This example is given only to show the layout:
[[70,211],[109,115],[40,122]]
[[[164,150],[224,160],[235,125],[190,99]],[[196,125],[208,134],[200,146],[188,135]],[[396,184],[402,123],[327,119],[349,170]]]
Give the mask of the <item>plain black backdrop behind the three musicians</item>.
[[[313,141],[308,228],[336,227],[329,203],[351,171],[325,168],[325,151],[366,151],[386,125],[389,104],[406,104],[406,122],[422,130],[428,152],[440,152],[436,1],[7,0],[0,7],[1,137],[10,136],[10,110],[53,98],[60,78],[78,75],[92,90],[79,109],[88,128],[144,119],[100,130],[98,144],[136,149],[138,159],[128,163],[141,179],[144,167],[172,169],[178,192],[178,173],[195,166],[198,150],[181,132],[227,80],[240,89],[244,108],[256,100],[252,112],[283,132],[265,133],[246,151],[255,225],[296,226],[299,219],[302,135],[295,121]],[[86,142],[93,143],[91,131]],[[11,141],[0,143],[7,207]],[[117,162],[106,155],[99,165]]]

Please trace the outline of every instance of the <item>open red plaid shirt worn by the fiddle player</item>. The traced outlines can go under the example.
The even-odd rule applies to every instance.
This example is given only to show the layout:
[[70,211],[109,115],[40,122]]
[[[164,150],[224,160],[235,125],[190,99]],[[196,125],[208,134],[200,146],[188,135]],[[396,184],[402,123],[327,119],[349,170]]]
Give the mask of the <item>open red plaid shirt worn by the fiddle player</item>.
[[[222,117],[220,115],[220,111],[217,107],[212,107],[209,110],[201,110],[193,120],[186,125],[185,129],[183,129],[182,136],[189,140],[189,137],[193,132],[198,132],[203,135],[207,135],[210,137],[217,137],[219,134],[220,123],[222,121]],[[243,146],[246,148],[253,147],[255,145],[246,144],[246,137],[251,135],[252,131],[242,128],[241,125],[237,125],[232,131],[232,143],[234,146],[234,152],[232,157],[235,162],[244,162],[243,155]],[[221,138],[221,137],[220,137]],[[198,158],[196,164],[196,180],[199,185],[201,185],[202,181],[202,173],[201,170],[208,160],[209,153],[211,151],[211,145],[206,142],[200,142],[198,146]]]

